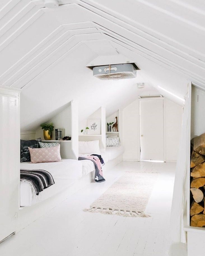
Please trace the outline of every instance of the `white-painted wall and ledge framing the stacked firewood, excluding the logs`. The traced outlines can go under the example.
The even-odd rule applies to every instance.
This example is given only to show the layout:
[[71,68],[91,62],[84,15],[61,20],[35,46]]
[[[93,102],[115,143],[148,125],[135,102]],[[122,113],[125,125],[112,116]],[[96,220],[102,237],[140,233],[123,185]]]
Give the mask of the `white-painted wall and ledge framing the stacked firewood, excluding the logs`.
[[189,116],[189,125],[187,126],[187,214],[185,214],[186,218],[184,218],[184,230],[187,231],[188,256],[203,256],[205,227],[190,226],[190,139],[205,133],[205,91],[193,85],[191,102],[189,103],[189,115],[190,112],[191,117]]

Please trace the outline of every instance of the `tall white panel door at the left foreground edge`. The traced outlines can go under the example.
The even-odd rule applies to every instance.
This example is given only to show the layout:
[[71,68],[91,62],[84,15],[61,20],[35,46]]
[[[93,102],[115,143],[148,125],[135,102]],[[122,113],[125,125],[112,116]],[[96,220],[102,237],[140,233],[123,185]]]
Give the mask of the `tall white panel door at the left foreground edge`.
[[19,208],[19,137],[18,93],[0,88],[0,241],[16,230]]

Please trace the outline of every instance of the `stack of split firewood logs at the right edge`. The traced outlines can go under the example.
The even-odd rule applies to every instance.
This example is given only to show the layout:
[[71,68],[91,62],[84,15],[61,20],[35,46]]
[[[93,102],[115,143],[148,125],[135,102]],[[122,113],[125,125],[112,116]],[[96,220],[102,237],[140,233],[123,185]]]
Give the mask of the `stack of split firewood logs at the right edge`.
[[205,226],[205,133],[191,140],[190,226]]

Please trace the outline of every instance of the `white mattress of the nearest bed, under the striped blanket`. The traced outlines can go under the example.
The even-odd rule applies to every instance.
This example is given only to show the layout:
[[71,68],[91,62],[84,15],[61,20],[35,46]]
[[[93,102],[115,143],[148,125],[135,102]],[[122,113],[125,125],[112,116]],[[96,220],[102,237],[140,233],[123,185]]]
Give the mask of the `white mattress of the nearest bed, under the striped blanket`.
[[53,163],[20,163],[21,169],[43,169],[50,172],[55,181],[55,184],[40,192],[38,196],[35,194],[35,190],[30,182],[21,181],[20,206],[34,205],[66,189],[72,185],[76,179],[81,178],[82,165],[83,163],[81,161],[73,159],[62,159],[62,162]]

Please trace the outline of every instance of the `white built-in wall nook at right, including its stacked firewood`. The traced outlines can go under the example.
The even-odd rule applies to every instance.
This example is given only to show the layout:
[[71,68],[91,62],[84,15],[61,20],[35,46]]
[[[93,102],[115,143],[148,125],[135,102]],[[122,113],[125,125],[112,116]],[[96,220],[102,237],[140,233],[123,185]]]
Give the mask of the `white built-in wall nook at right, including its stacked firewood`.
[[[191,150],[187,153],[187,214],[186,226],[188,239],[188,255],[204,254],[205,210],[204,210],[204,134],[205,133],[205,92],[192,85],[190,141]],[[200,136],[202,135],[202,136]],[[191,160],[191,162],[190,162]],[[202,227],[203,226],[203,227]]]

